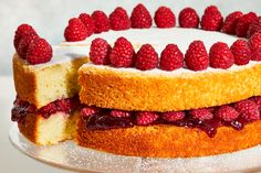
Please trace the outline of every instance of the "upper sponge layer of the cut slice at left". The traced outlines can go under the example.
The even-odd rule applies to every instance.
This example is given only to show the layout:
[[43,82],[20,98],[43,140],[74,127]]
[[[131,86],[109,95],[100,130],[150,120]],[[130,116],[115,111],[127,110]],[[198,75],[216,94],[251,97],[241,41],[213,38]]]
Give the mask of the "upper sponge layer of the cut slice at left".
[[72,62],[41,68],[28,64],[18,54],[14,54],[12,61],[18,96],[41,108],[56,99],[70,98],[79,93],[77,69],[88,58],[74,58]]

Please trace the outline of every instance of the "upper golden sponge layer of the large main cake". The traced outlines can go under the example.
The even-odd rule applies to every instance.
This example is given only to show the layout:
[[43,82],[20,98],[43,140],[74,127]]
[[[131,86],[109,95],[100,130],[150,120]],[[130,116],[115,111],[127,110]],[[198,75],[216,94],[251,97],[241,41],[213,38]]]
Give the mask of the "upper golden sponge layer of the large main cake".
[[261,95],[261,64],[237,71],[156,75],[84,65],[80,99],[88,106],[170,111],[220,106]]

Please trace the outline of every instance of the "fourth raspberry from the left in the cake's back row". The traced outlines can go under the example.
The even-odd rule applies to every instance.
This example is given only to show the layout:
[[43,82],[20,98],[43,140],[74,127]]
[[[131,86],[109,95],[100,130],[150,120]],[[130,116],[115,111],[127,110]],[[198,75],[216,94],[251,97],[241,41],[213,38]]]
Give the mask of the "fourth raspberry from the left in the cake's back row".
[[109,14],[109,22],[112,30],[127,30],[130,28],[130,20],[126,10],[118,7]]

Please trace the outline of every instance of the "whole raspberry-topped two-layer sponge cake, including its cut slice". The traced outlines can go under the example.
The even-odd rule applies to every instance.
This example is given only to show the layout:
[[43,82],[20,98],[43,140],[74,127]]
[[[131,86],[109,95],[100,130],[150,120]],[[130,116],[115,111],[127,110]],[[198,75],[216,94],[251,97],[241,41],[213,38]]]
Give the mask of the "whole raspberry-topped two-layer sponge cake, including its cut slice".
[[171,9],[160,7],[154,21],[143,4],[130,18],[119,7],[108,18],[100,10],[82,13],[69,21],[66,42],[53,52],[36,44],[31,26],[20,28],[28,48],[22,41],[15,45],[18,29],[12,120],[21,133],[36,144],[74,139],[85,148],[153,158],[260,144],[260,18],[236,11],[223,21],[210,6],[200,20],[185,8],[175,28]]

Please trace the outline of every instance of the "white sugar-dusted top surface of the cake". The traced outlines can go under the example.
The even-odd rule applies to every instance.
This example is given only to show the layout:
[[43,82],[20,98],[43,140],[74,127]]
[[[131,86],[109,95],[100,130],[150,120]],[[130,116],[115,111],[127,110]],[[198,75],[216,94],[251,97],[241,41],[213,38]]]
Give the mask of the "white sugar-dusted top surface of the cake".
[[[221,32],[213,31],[203,31],[198,29],[181,29],[181,28],[171,28],[171,29],[129,29],[125,31],[108,31],[101,34],[93,34],[84,41],[80,42],[63,42],[60,45],[53,46],[53,57],[52,61],[45,64],[36,65],[38,67],[45,67],[54,64],[61,64],[63,62],[71,61],[72,58],[81,58],[88,56],[91,42],[96,37],[102,37],[106,40],[111,45],[119,37],[124,36],[134,45],[135,51],[137,51],[143,44],[152,44],[156,52],[159,54],[169,43],[177,44],[180,51],[185,54],[189,44],[195,40],[201,40],[205,43],[207,51],[216,42],[225,42],[229,46],[238,39],[233,35],[228,35]],[[232,65],[229,71],[243,69],[246,67],[253,66],[259,62],[250,62],[248,65],[238,66]],[[96,66],[97,68],[107,68],[109,71],[124,71],[128,73],[140,73],[136,68],[115,68],[104,65],[94,65],[87,63],[84,66]],[[182,73],[205,73],[205,72],[227,72],[228,69],[217,69],[208,67],[206,71],[192,72],[186,68],[179,68],[173,72],[165,72],[161,69],[152,69],[144,72],[145,74],[160,74],[160,75],[177,75]]]

